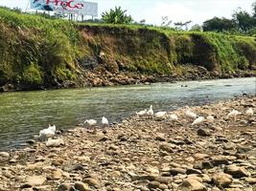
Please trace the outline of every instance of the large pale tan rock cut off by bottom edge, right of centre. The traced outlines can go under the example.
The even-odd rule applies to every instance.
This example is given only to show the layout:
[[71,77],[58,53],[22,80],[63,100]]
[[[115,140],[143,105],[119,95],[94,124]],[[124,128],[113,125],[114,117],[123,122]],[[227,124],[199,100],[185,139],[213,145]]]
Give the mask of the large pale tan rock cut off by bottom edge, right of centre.
[[207,191],[206,187],[194,179],[183,180],[182,183],[178,186],[178,190],[182,191]]

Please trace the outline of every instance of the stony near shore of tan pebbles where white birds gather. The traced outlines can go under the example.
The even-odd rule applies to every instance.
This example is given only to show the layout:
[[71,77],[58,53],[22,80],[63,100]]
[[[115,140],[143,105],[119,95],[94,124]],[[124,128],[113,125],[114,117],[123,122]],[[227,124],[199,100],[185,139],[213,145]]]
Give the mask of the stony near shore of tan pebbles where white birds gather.
[[[110,127],[76,127],[57,147],[28,141],[0,153],[0,190],[255,191],[256,96],[194,107],[213,122],[130,117]],[[227,117],[233,109],[242,112]]]

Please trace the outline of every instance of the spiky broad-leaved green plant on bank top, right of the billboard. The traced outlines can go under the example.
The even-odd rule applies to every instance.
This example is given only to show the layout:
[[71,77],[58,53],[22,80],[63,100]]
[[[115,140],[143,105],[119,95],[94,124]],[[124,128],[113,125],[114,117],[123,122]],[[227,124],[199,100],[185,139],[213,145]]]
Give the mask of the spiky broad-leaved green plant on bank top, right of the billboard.
[[121,7],[115,7],[115,10],[105,11],[102,14],[102,20],[105,23],[111,24],[131,24],[133,19],[130,15],[126,14],[126,11],[122,11]]

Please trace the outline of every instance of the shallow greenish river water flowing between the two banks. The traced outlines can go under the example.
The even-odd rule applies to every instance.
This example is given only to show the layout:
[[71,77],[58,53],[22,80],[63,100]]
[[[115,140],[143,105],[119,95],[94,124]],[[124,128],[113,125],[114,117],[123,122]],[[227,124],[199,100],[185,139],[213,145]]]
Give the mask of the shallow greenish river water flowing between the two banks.
[[256,77],[2,94],[0,151],[24,145],[49,123],[67,129],[86,118],[117,122],[150,105],[174,110],[242,94],[256,94]]

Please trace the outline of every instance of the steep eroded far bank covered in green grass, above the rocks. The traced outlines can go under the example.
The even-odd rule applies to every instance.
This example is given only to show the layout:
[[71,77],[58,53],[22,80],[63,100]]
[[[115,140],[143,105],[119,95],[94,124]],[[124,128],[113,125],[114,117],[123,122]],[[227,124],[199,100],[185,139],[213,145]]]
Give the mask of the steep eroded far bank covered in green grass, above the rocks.
[[143,26],[77,24],[0,9],[0,86],[77,82],[97,73],[185,74],[180,65],[233,74],[256,64],[253,37]]

